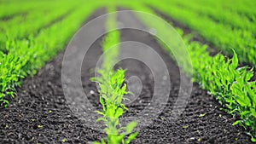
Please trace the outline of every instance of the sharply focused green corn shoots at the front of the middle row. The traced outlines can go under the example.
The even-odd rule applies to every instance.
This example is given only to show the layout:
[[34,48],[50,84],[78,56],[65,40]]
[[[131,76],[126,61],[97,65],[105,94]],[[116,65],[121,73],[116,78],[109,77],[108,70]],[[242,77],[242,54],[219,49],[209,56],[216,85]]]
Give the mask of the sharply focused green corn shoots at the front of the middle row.
[[[128,93],[126,91],[126,84],[124,84],[125,70],[110,71],[108,74],[103,70],[98,72],[102,77],[95,80],[100,86],[99,93],[102,111],[96,112],[102,115],[102,118],[98,118],[96,122],[102,121],[107,126],[104,131],[108,135],[108,143],[130,143],[138,134],[137,132],[132,133],[137,123],[131,122],[125,127],[119,127],[119,118],[128,110],[122,103],[123,95]],[[102,139],[102,143],[104,142],[105,140]]]

